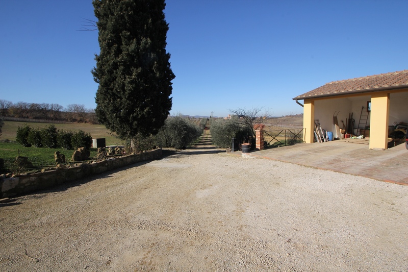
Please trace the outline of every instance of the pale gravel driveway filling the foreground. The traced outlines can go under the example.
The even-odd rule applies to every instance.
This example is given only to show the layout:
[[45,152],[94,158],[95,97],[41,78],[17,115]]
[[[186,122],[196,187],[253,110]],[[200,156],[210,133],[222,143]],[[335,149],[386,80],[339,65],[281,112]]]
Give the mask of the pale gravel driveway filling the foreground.
[[0,204],[2,271],[407,271],[408,186],[216,150]]

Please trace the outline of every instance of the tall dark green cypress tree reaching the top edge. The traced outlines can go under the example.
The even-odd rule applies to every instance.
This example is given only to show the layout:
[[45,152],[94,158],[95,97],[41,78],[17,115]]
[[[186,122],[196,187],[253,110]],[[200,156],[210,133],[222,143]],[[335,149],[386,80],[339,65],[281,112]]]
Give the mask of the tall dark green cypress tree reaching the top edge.
[[156,134],[171,106],[164,0],[93,0],[100,53],[95,113],[121,139]]

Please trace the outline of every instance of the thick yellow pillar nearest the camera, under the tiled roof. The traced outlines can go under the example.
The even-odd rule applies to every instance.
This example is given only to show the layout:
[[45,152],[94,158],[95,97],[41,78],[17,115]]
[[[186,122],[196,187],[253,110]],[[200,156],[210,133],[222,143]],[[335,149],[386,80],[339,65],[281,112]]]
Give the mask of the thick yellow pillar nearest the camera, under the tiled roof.
[[387,149],[390,94],[372,93],[370,122],[370,149]]

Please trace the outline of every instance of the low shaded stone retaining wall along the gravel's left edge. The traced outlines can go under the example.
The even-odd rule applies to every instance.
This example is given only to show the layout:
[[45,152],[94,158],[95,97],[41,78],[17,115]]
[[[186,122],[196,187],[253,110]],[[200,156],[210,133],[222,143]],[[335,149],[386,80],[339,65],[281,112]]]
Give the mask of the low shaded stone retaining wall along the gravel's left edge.
[[145,153],[109,158],[99,162],[81,163],[68,168],[52,169],[26,175],[15,175],[12,178],[0,178],[0,198],[50,188],[141,161],[158,160],[162,158],[162,154],[162,149],[157,149]]

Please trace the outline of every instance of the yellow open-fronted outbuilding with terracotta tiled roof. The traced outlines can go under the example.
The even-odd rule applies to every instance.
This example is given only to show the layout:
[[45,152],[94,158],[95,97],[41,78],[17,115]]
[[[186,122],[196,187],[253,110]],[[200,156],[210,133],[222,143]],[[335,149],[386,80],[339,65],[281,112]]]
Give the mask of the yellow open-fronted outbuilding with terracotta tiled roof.
[[385,150],[390,128],[408,123],[408,70],[330,82],[293,100],[304,101],[305,142],[315,139],[315,120],[333,132],[334,138],[340,138],[333,122],[337,116],[341,129],[353,135],[365,132],[370,149]]

